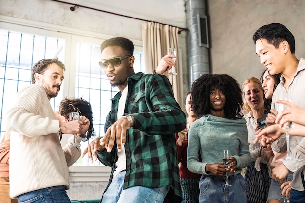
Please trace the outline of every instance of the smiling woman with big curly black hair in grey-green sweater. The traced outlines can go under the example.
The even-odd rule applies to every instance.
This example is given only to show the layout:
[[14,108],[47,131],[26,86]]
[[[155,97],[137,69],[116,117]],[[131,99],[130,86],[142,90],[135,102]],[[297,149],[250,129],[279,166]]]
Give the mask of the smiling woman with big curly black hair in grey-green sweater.
[[[199,203],[245,203],[245,181],[240,174],[250,163],[242,91],[227,74],[205,74],[192,85],[192,108],[198,116],[189,130],[187,166],[202,174]],[[200,150],[202,162],[198,159]],[[228,168],[221,164],[231,151]],[[231,186],[223,186],[225,175]]]

